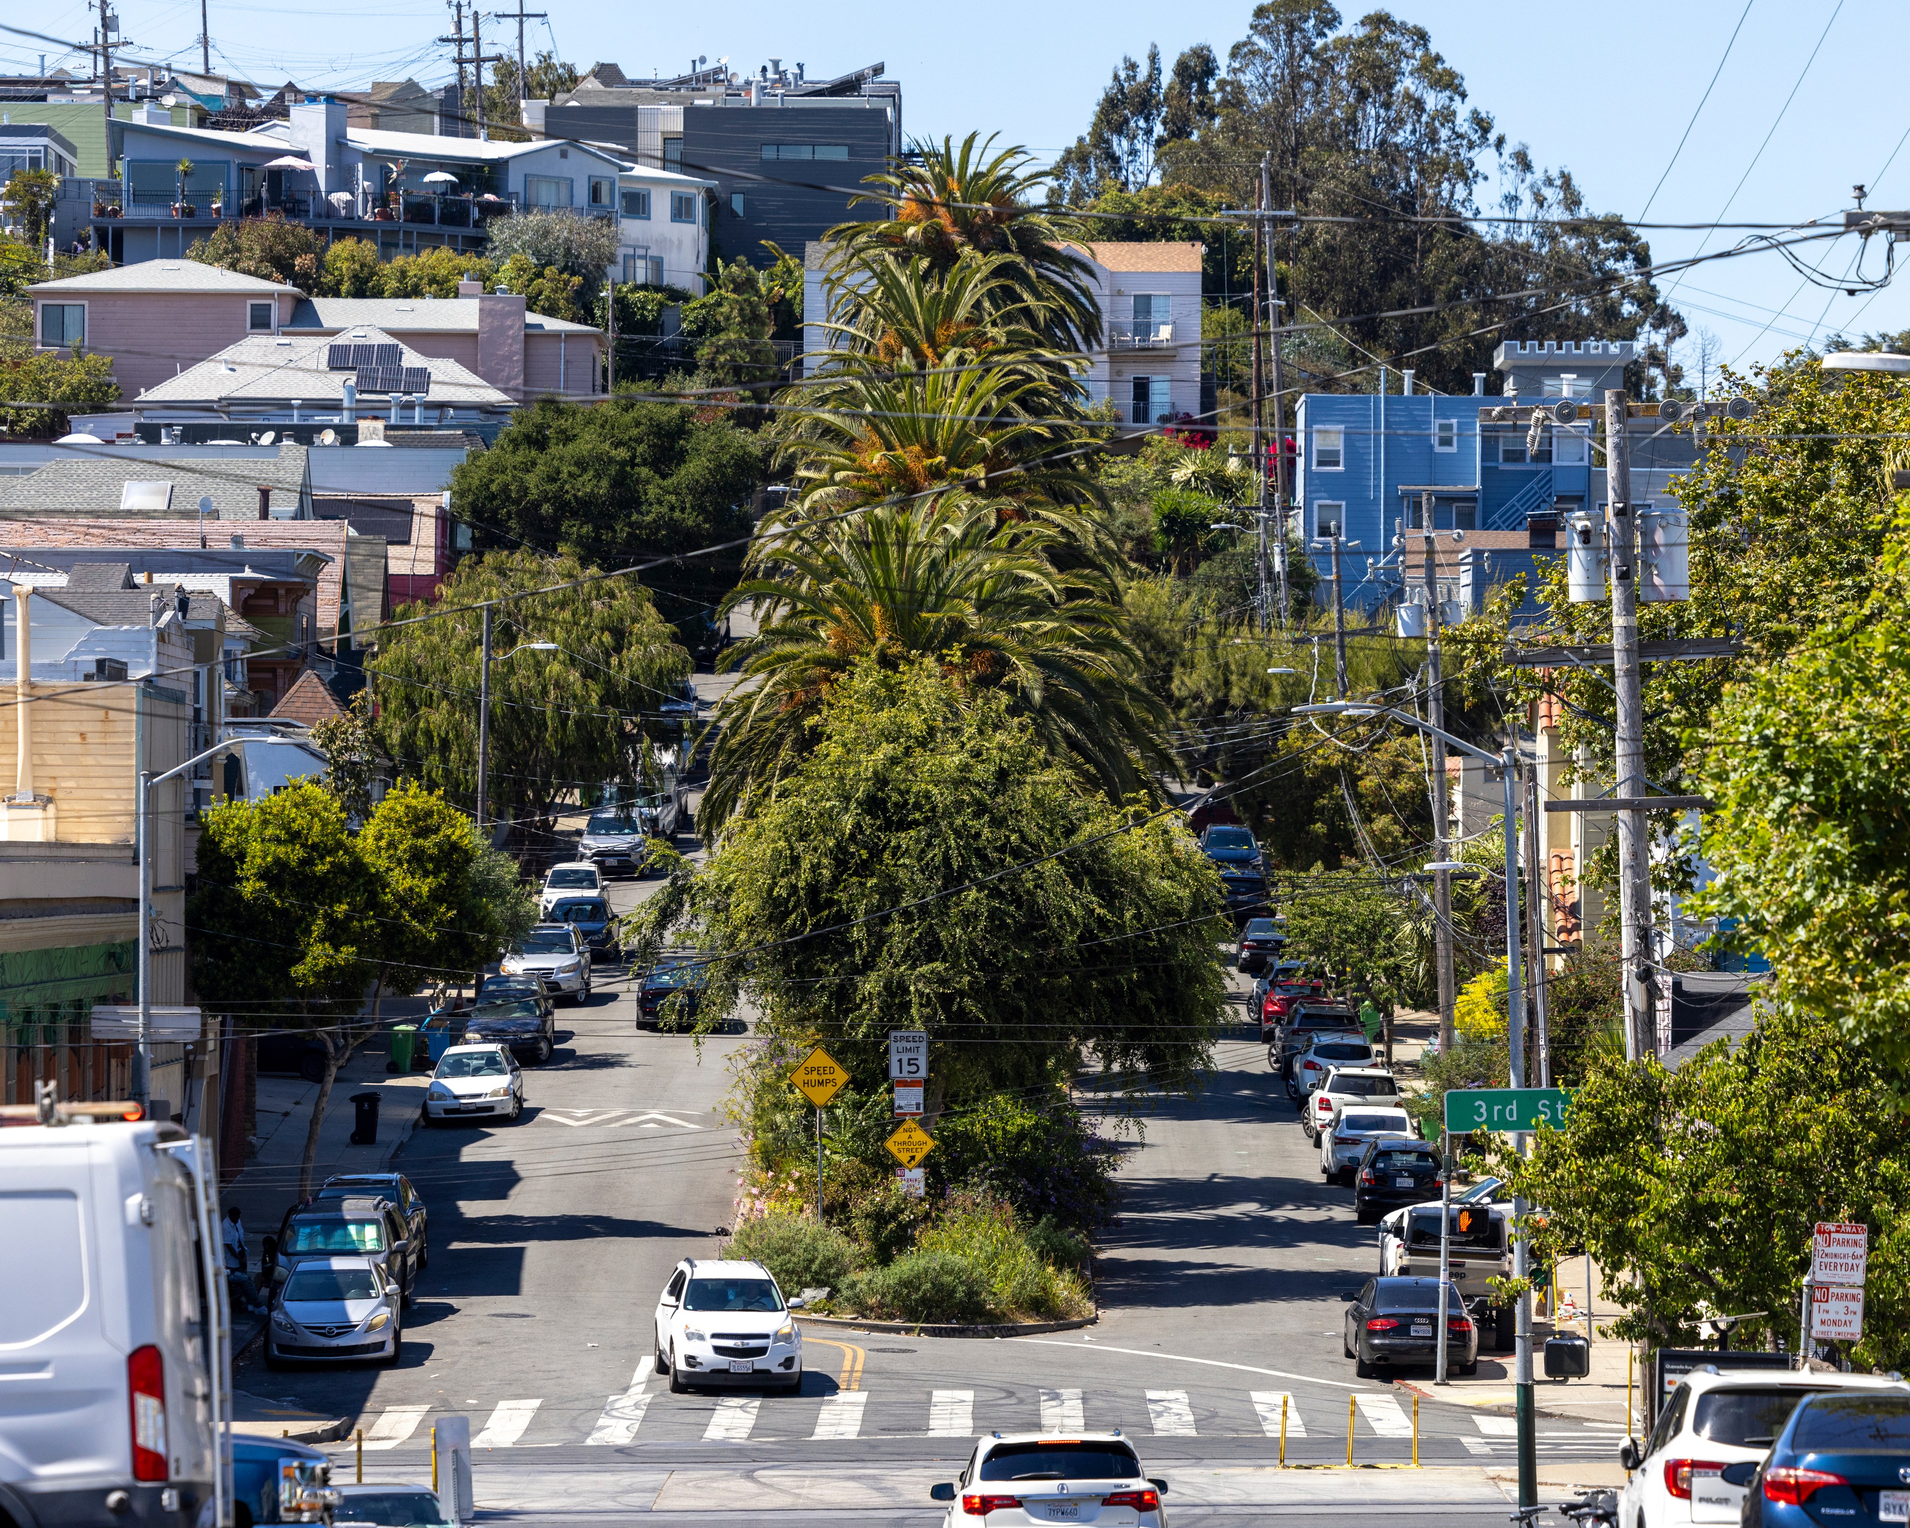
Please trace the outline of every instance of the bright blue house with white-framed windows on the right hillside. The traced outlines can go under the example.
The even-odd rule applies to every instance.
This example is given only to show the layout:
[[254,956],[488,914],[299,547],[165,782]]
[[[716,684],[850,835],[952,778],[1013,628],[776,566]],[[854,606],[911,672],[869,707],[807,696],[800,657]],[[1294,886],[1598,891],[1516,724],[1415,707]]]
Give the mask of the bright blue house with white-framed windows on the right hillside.
[[[1308,542],[1335,527],[1360,542],[1345,563],[1347,604],[1373,611],[1419,583],[1425,542],[1408,537],[1400,552],[1392,539],[1425,529],[1429,493],[1431,529],[1459,533],[1436,542],[1436,577],[1448,586],[1442,598],[1476,609],[1486,588],[1532,571],[1534,552],[1557,550],[1564,518],[1604,502],[1591,418],[1549,426],[1530,449],[1522,424],[1496,424],[1490,411],[1560,397],[1602,407],[1604,390],[1625,384],[1631,359],[1629,340],[1507,340],[1492,357],[1501,374],[1497,395],[1486,392],[1486,372],[1475,372],[1473,392],[1461,397],[1415,392],[1410,371],[1404,390],[1392,392],[1387,369],[1373,393],[1306,393],[1295,418],[1299,529]],[[1688,437],[1681,443],[1688,456]],[[1654,447],[1652,464],[1683,466],[1671,460],[1671,437]],[[1329,558],[1314,558],[1327,573]],[[1530,600],[1528,609],[1538,613]]]

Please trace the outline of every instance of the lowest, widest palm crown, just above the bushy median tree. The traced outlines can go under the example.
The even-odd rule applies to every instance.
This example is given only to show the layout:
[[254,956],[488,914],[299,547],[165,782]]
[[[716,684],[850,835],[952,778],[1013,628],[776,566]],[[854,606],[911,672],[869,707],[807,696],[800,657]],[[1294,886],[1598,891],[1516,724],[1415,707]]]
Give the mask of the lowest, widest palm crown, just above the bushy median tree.
[[892,504],[777,527],[751,552],[758,577],[743,682],[712,716],[716,747],[697,825],[712,837],[808,753],[810,718],[856,663],[934,657],[966,688],[1012,693],[1056,754],[1119,798],[1165,764],[1165,709],[1136,678],[1114,581],[1056,571],[1066,537],[1003,523],[987,499]]

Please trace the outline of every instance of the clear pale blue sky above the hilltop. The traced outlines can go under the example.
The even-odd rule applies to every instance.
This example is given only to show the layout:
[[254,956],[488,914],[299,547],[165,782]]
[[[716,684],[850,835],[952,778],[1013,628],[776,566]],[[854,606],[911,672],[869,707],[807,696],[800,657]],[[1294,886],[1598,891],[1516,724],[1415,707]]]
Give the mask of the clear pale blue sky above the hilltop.
[[[911,136],[982,128],[1043,157],[1085,130],[1123,53],[1144,57],[1156,42],[1171,65],[1182,48],[1205,42],[1224,59],[1253,13],[1249,0],[966,0],[957,10],[894,0],[831,0],[812,10],[787,0],[728,0],[714,13],[699,6],[535,2],[550,15],[529,23],[531,50],[556,44],[560,57],[579,67],[607,59],[647,74],[684,69],[693,55],[728,55],[732,67],[754,71],[774,55],[785,65],[802,61],[810,76],[829,76],[881,61],[902,80],[903,130]],[[214,69],[271,88],[285,78],[308,88],[407,74],[426,84],[449,78],[449,46],[435,42],[449,31],[445,4],[206,4]],[[122,0],[122,34],[139,57],[197,65],[199,8],[201,0]],[[1484,0],[1396,0],[1390,10],[1431,32],[1432,46],[1465,76],[1471,103],[1492,115],[1509,141],[1526,143],[1541,166],[1570,168],[1595,212],[1639,218],[1650,206],[1650,222],[1790,225],[1828,218],[1836,225],[1855,206],[1855,183],[1868,187],[1870,208],[1910,208],[1910,113],[1891,86],[1893,63],[1910,38],[1904,0],[1750,0],[1748,10],[1746,0],[1608,0],[1524,11]],[[1343,13],[1354,19],[1364,8],[1343,6]],[[90,38],[90,15],[82,0],[52,0],[31,25],[59,38]],[[485,32],[487,46],[516,40],[516,23],[487,27],[495,29]],[[36,69],[38,50],[0,34],[0,69]],[[1648,231],[1658,260],[1730,248],[1742,237]],[[1807,283],[1771,250],[1667,277],[1662,290],[1692,329],[1679,359],[1694,367],[1700,329],[1717,336],[1719,359],[1740,369],[1834,332],[1910,329],[1910,288],[1851,298],[1837,285],[1858,269],[1860,243],[1841,237],[1797,250],[1822,267],[1832,290]],[[1881,273],[1883,256],[1883,243],[1872,239],[1862,273]]]

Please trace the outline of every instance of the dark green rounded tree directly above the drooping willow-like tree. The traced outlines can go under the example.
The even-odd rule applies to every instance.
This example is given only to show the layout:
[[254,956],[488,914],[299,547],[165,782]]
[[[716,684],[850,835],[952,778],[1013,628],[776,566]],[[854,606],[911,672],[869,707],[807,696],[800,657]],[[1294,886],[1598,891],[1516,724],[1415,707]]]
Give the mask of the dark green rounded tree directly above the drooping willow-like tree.
[[[489,451],[460,464],[451,491],[479,548],[537,546],[602,567],[749,535],[764,451],[728,416],[678,403],[541,399]],[[705,615],[735,583],[739,552],[647,573],[665,615]]]

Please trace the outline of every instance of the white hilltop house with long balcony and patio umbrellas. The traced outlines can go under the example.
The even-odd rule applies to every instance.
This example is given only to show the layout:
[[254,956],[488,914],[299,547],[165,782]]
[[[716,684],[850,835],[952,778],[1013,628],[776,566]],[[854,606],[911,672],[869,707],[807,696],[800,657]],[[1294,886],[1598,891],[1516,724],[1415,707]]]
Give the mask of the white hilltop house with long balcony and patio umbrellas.
[[[361,128],[350,105],[308,97],[248,132],[115,122],[120,178],[78,183],[94,248],[113,264],[180,258],[222,220],[277,212],[380,256],[481,250],[518,208],[617,218],[615,149],[569,139],[504,143]],[[180,174],[180,162],[191,164]]]

